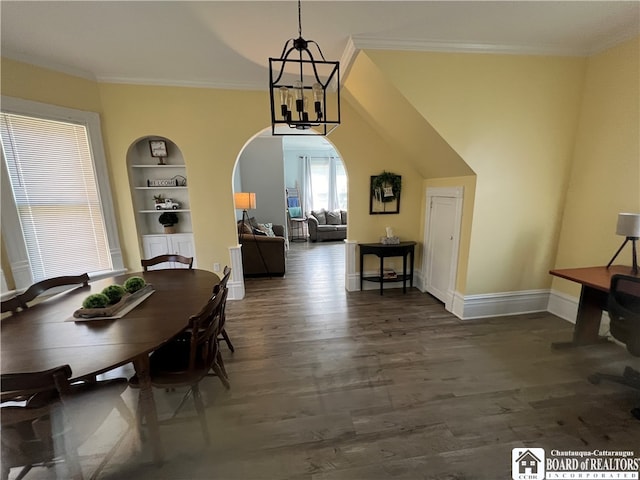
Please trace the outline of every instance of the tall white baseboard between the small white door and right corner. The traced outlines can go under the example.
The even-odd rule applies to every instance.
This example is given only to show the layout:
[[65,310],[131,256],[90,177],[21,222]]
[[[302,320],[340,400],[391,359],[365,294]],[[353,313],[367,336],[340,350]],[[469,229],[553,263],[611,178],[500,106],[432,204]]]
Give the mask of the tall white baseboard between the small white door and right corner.
[[455,292],[451,313],[462,320],[546,312],[549,290],[523,290],[481,295]]

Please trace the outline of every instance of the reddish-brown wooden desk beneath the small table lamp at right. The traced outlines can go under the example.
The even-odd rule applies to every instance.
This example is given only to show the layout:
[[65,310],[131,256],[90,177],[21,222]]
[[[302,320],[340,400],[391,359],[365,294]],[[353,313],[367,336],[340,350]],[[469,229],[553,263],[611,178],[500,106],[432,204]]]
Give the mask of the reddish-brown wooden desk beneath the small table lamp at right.
[[605,337],[598,335],[598,330],[602,312],[607,309],[611,277],[615,274],[631,275],[631,267],[614,265],[610,268],[564,268],[551,270],[549,273],[582,285],[573,340],[554,343],[553,348],[592,345],[607,341]]

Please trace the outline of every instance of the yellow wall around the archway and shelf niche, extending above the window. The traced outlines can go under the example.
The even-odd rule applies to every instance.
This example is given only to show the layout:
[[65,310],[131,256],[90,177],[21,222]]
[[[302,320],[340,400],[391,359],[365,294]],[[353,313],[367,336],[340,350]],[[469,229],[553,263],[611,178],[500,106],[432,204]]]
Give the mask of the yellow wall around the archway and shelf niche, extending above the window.
[[[229,247],[237,243],[232,173],[245,143],[269,125],[267,92],[96,84],[44,73],[48,81],[36,87],[31,77],[43,75],[42,69],[3,59],[2,93],[100,113],[125,266],[137,270],[140,265],[127,151],[148,135],[169,138],[185,159],[199,268],[211,270],[214,262],[230,263]],[[5,77],[11,79],[10,89],[4,88]],[[55,85],[55,92],[49,92],[49,84]],[[79,85],[87,85],[92,95],[82,90],[82,101],[75,98]],[[420,215],[421,177],[346,101],[342,115],[343,124],[332,133],[331,141],[349,176],[349,238],[376,241],[387,225],[400,236],[419,238],[415,219]],[[384,169],[403,176],[401,212],[370,216],[369,178]]]

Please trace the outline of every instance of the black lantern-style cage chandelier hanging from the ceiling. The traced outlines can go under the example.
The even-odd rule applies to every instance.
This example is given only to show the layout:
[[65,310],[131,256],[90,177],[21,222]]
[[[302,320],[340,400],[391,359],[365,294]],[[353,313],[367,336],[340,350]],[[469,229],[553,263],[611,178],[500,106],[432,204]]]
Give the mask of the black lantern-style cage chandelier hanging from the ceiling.
[[[316,42],[302,38],[300,0],[298,38],[287,40],[280,58],[269,58],[269,92],[273,135],[328,135],[340,125],[340,62],[326,61]],[[295,132],[276,129],[285,125]]]

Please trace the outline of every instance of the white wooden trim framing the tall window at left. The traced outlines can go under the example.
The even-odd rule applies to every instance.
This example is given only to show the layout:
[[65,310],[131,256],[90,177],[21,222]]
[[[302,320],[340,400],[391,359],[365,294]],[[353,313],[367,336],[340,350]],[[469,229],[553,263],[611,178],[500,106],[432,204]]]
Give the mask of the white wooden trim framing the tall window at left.
[[[125,268],[122,250],[120,248],[115,209],[113,207],[107,160],[104,154],[100,115],[86,110],[59,107],[4,95],[0,97],[0,101],[2,102],[0,110],[5,113],[72,122],[85,126],[89,137],[89,147],[93,157],[96,183],[100,193],[104,223],[107,231],[109,254],[111,255],[113,265],[113,271],[104,272],[104,275],[101,272],[98,276],[123,273]],[[2,238],[5,244],[7,258],[11,265],[16,290],[22,290],[29,287],[29,285],[33,283],[33,279],[31,278],[29,258],[22,236],[22,227],[20,226],[18,211],[13,199],[4,153],[1,152],[1,149],[0,155],[2,155],[2,183],[0,185],[2,189],[0,193],[0,200],[2,201]],[[93,275],[93,278],[96,277],[96,275]]]

